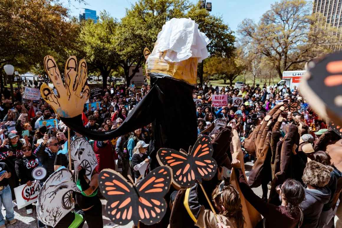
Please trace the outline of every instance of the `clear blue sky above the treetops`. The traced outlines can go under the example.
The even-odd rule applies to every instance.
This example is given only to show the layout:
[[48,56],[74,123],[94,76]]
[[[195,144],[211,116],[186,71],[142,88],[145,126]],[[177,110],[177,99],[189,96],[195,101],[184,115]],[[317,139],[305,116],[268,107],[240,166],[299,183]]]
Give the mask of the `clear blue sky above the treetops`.
[[[197,0],[190,0],[197,2]],[[222,16],[223,20],[229,27],[235,31],[238,24],[244,18],[251,18],[258,22],[264,12],[270,9],[271,4],[277,0],[207,0],[212,2],[211,14]],[[279,0],[278,0],[279,1]],[[126,8],[130,8],[131,4],[136,0],[86,0],[88,5],[79,4],[71,0],[69,4],[67,0],[61,0],[64,6],[70,9],[70,14],[78,16],[80,8],[88,8],[100,11],[106,10],[113,17],[122,18],[126,13]]]

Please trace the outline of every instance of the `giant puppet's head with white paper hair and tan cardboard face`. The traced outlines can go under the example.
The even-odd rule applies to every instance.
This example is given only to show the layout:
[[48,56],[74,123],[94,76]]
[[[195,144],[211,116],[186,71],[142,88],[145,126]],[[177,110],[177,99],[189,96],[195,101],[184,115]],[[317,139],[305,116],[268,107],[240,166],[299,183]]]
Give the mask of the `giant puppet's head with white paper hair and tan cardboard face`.
[[197,63],[209,56],[209,43],[191,18],[172,18],[158,34],[146,72],[150,77],[168,76],[196,85]]

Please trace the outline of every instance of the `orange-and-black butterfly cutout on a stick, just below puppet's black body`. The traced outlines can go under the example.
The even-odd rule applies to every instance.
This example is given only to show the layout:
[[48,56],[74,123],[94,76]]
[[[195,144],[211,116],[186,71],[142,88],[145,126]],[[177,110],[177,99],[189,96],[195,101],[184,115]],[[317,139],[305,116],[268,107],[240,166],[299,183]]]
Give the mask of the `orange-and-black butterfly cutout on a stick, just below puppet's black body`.
[[212,159],[213,147],[209,137],[200,137],[189,153],[184,150],[176,151],[168,148],[161,148],[157,152],[157,160],[160,165],[170,166],[172,169],[173,183],[178,187],[189,188],[204,180],[214,177],[217,164]]

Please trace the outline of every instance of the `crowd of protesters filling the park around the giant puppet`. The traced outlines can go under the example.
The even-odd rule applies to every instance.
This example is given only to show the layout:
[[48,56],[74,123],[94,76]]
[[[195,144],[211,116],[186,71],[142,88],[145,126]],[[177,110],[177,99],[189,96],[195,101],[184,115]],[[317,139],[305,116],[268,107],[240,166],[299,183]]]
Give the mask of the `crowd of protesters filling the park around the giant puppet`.
[[[39,88],[40,85],[35,85],[35,87]],[[120,127],[149,90],[149,85],[142,85],[139,89],[134,85],[129,87],[114,83],[109,85],[104,88],[102,94],[93,96],[89,100],[89,102],[101,102],[98,110],[84,107],[85,127],[93,131],[108,131]],[[212,107],[213,94],[226,94],[227,105],[219,108]],[[26,100],[22,98],[22,95],[22,90],[16,89],[15,97],[12,98],[9,91],[5,89],[1,97],[0,171],[4,170],[5,172],[0,173],[0,204],[3,205],[6,216],[4,218],[0,214],[0,228],[5,227],[5,220],[8,220],[10,224],[16,222],[13,211],[16,206],[14,188],[23,184],[32,185],[35,181],[31,175],[32,169],[43,166],[47,169],[49,176],[61,166],[69,166],[67,156],[58,153],[63,150],[64,143],[67,141],[68,128],[49,104],[42,99]],[[240,106],[233,105],[234,97],[243,99]],[[285,142],[288,138],[289,128],[293,126],[300,135],[298,139],[295,137],[289,139],[297,140],[295,142],[297,147],[293,147],[293,154],[302,156],[300,160],[302,169],[298,171],[299,173],[287,175],[288,178],[281,178],[281,181],[277,180],[278,185],[271,188],[271,192],[272,190],[276,192],[277,200],[274,200],[272,198],[274,194],[270,193],[268,197],[267,189],[269,181],[274,180],[271,177],[274,176],[273,170],[268,170],[268,177],[261,181],[262,198],[253,193],[252,185],[245,178],[243,172],[244,162],[251,160],[257,165],[259,157],[262,157],[260,153],[255,153],[255,151],[251,153],[246,149],[242,161],[228,154],[231,166],[226,168],[233,168],[237,173],[240,192],[236,187],[229,185],[229,181],[221,182],[223,174],[222,167],[220,167],[217,178],[215,178],[215,180],[217,179],[216,188],[211,193],[212,202],[219,217],[215,217],[210,210],[205,209],[198,200],[189,201],[193,205],[190,208],[192,214],[195,215],[196,226],[245,227],[246,219],[241,209],[240,194],[243,194],[246,200],[263,216],[258,227],[328,228],[335,226],[334,215],[342,215],[342,206],[338,204],[342,189],[340,186],[342,173],[331,163],[329,154],[322,147],[317,146],[310,153],[300,153],[302,148],[300,145],[309,144],[315,148],[323,136],[327,133],[334,133],[328,129],[327,123],[310,109],[297,88],[290,89],[284,86],[279,89],[277,86],[267,87],[264,85],[260,87],[257,84],[236,89],[232,86],[213,87],[205,83],[194,89],[193,98],[200,99],[200,103],[196,105],[198,135],[208,135],[209,132],[203,133],[203,131],[215,124],[217,119],[224,119],[227,127],[237,132],[239,145],[236,147],[242,146],[244,151],[247,148],[246,143],[250,143],[248,138],[251,137],[252,132],[261,124],[265,116],[272,112],[272,109],[277,109],[277,105],[284,102],[299,101],[298,110],[282,114],[283,118],[277,129],[279,132],[277,142]],[[44,120],[48,119],[56,119],[56,126],[47,127],[42,124]],[[213,140],[215,139],[215,135],[210,136]],[[82,135],[71,131],[71,140],[77,137],[82,137]],[[338,139],[336,136],[335,138]],[[102,195],[98,191],[97,183],[98,173],[105,168],[110,168],[120,172],[127,179],[130,175],[135,183],[143,179],[150,171],[148,164],[155,159],[149,156],[153,141],[152,126],[148,124],[129,134],[107,141],[89,141],[93,145],[98,166],[91,179],[85,175],[84,167],[74,167],[79,170],[77,186],[81,190],[81,193],[75,195],[75,210],[82,212],[88,227],[95,228],[103,226],[100,201]],[[278,156],[280,156],[281,145],[279,148]],[[271,151],[271,149],[269,150]],[[279,157],[277,159],[279,160]],[[277,168],[275,169],[277,170]],[[280,171],[279,168],[278,171]],[[190,189],[191,194],[194,196],[193,199],[197,199],[197,185]],[[171,194],[170,206],[175,200],[172,196],[175,194]],[[32,214],[34,208],[32,205],[25,208],[27,214]],[[39,221],[38,226],[45,227]],[[342,227],[342,222],[338,222],[336,227]]]

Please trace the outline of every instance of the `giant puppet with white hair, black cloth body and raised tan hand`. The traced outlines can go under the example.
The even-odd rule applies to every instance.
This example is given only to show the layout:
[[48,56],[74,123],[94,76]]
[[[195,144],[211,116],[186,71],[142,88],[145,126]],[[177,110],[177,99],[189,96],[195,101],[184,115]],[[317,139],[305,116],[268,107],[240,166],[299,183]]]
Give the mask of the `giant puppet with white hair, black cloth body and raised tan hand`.
[[[45,71],[57,94],[47,84],[41,86],[48,102],[71,129],[93,140],[108,140],[153,123],[154,150],[189,148],[197,139],[196,108],[192,92],[196,85],[197,63],[209,56],[210,40],[190,18],[172,18],[163,25],[152,53],[146,61],[151,89],[135,106],[122,125],[106,132],[86,129],[81,120],[84,103],[90,96],[87,64],[71,56],[65,64],[65,85],[52,56],[45,56]],[[180,130],[181,129],[181,130]]]

